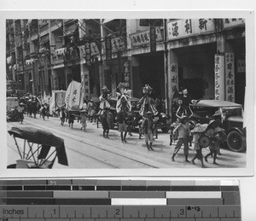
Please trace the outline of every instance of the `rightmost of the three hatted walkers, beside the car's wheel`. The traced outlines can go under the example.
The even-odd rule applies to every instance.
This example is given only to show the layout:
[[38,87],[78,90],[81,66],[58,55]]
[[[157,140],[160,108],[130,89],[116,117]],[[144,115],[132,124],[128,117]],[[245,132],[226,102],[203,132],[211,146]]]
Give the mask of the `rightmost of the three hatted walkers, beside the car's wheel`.
[[208,156],[213,155],[213,164],[218,165],[216,162],[217,159],[217,154],[219,152],[219,144],[220,144],[220,139],[218,136],[218,132],[224,131],[224,129],[219,127],[220,121],[212,119],[208,126],[207,126],[207,131],[206,135],[211,138],[212,142],[209,145],[210,153],[205,156],[205,160],[207,160]]

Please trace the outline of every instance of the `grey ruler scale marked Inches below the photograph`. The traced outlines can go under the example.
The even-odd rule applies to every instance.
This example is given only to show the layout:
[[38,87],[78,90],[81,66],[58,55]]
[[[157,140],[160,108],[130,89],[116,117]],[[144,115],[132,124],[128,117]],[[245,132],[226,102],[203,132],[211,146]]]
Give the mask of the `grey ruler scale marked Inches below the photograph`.
[[236,181],[1,180],[0,221],[241,221]]

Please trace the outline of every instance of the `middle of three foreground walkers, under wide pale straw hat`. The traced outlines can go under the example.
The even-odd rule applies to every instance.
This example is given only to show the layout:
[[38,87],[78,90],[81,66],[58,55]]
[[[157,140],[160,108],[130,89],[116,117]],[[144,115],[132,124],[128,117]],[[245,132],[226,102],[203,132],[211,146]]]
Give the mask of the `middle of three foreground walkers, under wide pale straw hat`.
[[203,161],[203,155],[201,153],[201,146],[199,145],[199,138],[201,137],[201,134],[207,130],[207,124],[201,125],[197,124],[195,125],[195,128],[191,131],[193,134],[193,140],[192,143],[194,144],[194,149],[196,151],[195,156],[191,160],[193,164],[195,164],[195,159],[201,160],[201,167],[205,168],[204,161]]

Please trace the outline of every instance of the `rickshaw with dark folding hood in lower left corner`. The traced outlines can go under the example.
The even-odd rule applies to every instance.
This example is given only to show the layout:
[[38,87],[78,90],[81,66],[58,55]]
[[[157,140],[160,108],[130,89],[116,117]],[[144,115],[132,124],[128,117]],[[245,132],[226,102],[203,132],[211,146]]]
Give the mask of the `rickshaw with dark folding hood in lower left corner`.
[[32,127],[12,127],[8,132],[15,139],[20,160],[7,168],[51,169],[56,158],[59,164],[68,166],[61,137]]

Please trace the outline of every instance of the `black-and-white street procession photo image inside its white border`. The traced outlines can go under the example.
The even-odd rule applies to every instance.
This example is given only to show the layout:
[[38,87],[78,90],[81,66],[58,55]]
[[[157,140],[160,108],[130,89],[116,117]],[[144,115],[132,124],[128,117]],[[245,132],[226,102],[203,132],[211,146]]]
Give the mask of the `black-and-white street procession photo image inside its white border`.
[[7,168],[246,166],[244,22],[7,20]]

